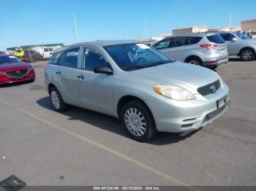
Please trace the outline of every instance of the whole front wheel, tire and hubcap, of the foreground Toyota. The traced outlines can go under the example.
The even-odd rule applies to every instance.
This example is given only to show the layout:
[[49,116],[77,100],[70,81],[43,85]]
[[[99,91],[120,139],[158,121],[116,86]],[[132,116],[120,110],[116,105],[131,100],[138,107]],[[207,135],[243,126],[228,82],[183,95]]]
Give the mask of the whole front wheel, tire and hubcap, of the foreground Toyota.
[[129,101],[121,110],[121,121],[129,135],[137,141],[148,141],[157,133],[154,117],[142,101]]

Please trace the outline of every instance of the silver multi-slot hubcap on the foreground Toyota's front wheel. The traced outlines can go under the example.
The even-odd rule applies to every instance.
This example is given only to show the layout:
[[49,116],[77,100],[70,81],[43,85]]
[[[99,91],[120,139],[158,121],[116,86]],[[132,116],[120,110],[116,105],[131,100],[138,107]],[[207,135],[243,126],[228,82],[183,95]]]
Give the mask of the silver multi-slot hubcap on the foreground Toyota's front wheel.
[[143,136],[146,133],[146,120],[138,109],[127,109],[124,114],[124,122],[132,135]]

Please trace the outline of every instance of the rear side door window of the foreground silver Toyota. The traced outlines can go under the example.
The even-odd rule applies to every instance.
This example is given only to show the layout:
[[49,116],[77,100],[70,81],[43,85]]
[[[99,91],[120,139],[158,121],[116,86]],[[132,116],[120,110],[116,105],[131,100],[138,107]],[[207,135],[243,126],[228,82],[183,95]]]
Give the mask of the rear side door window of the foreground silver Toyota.
[[66,50],[61,57],[61,66],[72,69],[78,68],[79,47]]

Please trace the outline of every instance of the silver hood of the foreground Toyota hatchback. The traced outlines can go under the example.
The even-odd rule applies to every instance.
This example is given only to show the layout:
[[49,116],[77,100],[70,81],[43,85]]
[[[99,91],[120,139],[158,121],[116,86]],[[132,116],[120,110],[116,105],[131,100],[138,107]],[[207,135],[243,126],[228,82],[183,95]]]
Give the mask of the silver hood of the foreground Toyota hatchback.
[[156,84],[187,86],[193,90],[219,79],[219,76],[210,69],[181,62],[135,70],[131,71],[130,74],[149,79],[156,82]]

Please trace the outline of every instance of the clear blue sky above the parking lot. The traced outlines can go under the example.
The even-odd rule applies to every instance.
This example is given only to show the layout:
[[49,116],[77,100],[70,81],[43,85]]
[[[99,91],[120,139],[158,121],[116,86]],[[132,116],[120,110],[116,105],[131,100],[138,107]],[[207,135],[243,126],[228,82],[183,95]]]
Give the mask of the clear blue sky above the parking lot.
[[1,1],[0,50],[30,44],[136,39],[175,28],[240,26],[256,18],[252,0],[6,0]]

